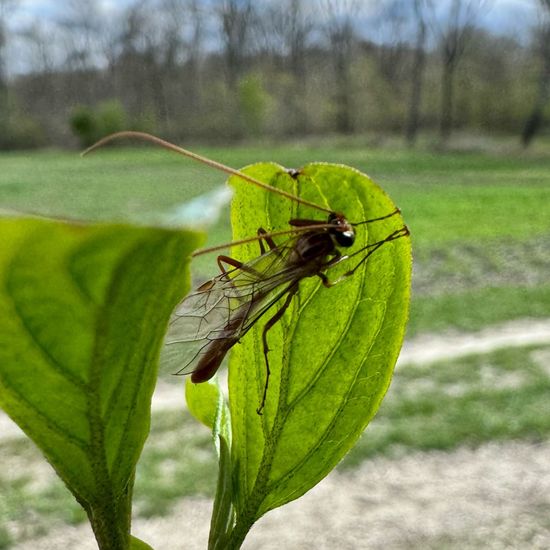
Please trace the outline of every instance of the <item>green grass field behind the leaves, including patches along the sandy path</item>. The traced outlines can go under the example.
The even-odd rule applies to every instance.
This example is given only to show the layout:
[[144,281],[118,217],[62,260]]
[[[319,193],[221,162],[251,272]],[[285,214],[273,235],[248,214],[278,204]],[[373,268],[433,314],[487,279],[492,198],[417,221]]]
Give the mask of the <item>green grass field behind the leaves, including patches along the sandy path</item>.
[[[550,156],[371,149],[358,141],[195,150],[233,167],[258,161],[288,167],[344,163],[382,185],[412,233],[409,336],[550,317]],[[0,167],[0,207],[142,223],[161,220],[225,180],[192,161],[144,147],[106,149],[85,159],[56,151],[1,154]],[[226,212],[212,227],[209,242],[228,240]],[[196,267],[197,278],[215,272],[213,257]],[[400,370],[367,437],[344,466],[380,453],[547,438],[550,378],[542,362],[547,363],[549,351],[501,350]],[[182,495],[212,494],[211,447],[208,432],[186,413],[155,414],[138,468],[136,511],[163,514]],[[39,453],[30,442],[2,443],[0,457],[5,461],[0,517],[18,521],[18,539],[47,530],[52,522],[83,520],[51,475],[51,482],[37,488]],[[13,543],[0,525],[0,549]]]

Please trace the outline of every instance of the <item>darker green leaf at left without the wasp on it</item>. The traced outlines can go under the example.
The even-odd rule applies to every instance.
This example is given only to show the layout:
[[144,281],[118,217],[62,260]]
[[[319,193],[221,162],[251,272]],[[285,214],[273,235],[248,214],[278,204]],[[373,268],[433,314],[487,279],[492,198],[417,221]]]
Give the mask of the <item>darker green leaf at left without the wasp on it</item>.
[[[159,350],[194,234],[0,220],[0,406],[127,548]],[[103,546],[102,546],[103,545]]]

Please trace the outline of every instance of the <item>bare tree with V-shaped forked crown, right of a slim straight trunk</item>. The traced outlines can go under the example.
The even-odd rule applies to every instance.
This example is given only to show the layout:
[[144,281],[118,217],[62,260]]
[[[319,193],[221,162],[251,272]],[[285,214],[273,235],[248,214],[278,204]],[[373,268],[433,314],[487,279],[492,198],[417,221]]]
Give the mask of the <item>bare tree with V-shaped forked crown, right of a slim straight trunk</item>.
[[[441,114],[439,135],[445,143],[453,128],[456,70],[472,36],[472,30],[490,0],[450,0],[445,13],[436,9],[433,0],[431,22],[439,42],[443,71],[441,75]],[[438,3],[438,6],[441,4]]]

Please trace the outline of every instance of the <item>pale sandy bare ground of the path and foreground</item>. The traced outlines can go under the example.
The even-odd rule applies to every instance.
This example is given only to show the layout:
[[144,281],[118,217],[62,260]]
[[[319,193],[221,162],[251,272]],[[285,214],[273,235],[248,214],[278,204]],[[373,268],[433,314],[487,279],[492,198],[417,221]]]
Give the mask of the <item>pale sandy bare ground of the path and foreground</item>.
[[[406,342],[398,367],[541,343],[550,343],[550,320],[422,336]],[[160,384],[153,408],[181,407],[181,398],[179,386]],[[19,433],[0,416],[0,437]],[[156,550],[204,549],[210,509],[208,499],[184,499],[169,516],[137,519],[133,532]],[[12,548],[97,546],[90,528],[79,525],[54,528]],[[333,472],[298,501],[262,518],[243,548],[549,549],[550,443],[491,443],[453,453],[376,458],[353,472]]]

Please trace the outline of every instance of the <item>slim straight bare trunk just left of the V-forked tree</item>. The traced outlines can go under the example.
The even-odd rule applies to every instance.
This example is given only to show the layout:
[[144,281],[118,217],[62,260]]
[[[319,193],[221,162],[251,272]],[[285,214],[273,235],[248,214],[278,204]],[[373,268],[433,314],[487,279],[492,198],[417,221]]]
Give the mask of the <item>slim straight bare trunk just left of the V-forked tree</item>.
[[416,142],[420,125],[420,105],[422,103],[422,80],[426,67],[426,2],[425,0],[413,0],[413,18],[416,26],[416,40],[414,45],[414,58],[411,72],[411,91],[405,138],[409,146]]

